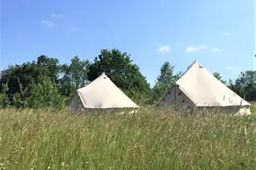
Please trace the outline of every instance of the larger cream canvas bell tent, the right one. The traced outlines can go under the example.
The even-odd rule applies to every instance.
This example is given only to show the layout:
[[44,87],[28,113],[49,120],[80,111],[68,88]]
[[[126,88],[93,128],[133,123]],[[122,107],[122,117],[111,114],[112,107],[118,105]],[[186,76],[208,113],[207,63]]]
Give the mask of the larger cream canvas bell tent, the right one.
[[[158,101],[158,106],[220,108],[234,114],[250,114],[249,103],[226,87],[197,60]],[[172,105],[174,106],[174,105]]]

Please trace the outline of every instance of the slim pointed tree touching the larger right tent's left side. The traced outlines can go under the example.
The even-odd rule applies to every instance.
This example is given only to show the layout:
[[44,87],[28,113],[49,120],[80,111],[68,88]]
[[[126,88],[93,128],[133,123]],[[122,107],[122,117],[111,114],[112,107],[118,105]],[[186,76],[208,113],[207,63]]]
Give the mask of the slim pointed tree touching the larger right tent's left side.
[[174,66],[171,66],[170,62],[164,62],[160,68],[160,75],[156,79],[156,83],[152,89],[153,98],[152,101],[159,100],[159,98],[166,93],[175,81],[179,79],[181,72],[174,75]]

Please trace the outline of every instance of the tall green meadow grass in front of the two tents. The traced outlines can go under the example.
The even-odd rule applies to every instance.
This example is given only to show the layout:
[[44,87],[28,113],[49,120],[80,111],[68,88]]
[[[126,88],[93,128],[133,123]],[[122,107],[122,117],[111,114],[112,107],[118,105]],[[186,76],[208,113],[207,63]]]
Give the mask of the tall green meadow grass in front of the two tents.
[[0,111],[0,169],[256,169],[256,116]]

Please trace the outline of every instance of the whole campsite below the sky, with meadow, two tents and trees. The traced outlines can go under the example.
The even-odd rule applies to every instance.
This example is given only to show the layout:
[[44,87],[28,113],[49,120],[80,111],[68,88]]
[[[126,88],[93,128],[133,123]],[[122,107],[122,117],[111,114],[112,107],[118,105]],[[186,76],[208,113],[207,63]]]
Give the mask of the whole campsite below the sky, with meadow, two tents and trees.
[[1,72],[1,168],[256,167],[256,89],[246,93],[255,71],[228,84],[197,60],[177,74],[164,62],[150,87],[125,53],[101,53],[69,65],[40,56]]

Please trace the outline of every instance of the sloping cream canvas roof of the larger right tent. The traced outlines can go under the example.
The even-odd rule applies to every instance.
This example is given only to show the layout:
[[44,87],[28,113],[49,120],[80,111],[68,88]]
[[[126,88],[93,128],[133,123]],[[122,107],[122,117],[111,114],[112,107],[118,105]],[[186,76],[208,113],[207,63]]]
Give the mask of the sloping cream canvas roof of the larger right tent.
[[208,72],[197,60],[176,81],[179,89],[196,106],[246,106],[250,105]]

